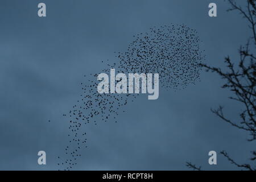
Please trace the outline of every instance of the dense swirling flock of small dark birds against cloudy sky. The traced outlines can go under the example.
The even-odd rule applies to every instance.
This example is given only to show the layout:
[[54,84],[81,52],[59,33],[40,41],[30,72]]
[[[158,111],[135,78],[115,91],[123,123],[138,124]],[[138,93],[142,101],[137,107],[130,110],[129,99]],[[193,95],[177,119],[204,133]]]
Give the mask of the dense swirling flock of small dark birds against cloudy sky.
[[[184,89],[199,80],[199,63],[204,59],[196,30],[183,24],[152,27],[148,32],[135,35],[127,51],[115,53],[117,62],[107,64],[108,68],[100,73],[109,73],[111,68],[123,73],[159,73],[160,88],[175,90]],[[82,126],[117,122],[118,114],[125,111],[125,105],[138,96],[99,94],[97,76],[85,75],[86,84],[81,83],[80,100],[67,114],[63,114],[69,122],[69,142],[64,154],[58,156],[60,170],[72,170],[81,157],[82,148],[88,147]]]

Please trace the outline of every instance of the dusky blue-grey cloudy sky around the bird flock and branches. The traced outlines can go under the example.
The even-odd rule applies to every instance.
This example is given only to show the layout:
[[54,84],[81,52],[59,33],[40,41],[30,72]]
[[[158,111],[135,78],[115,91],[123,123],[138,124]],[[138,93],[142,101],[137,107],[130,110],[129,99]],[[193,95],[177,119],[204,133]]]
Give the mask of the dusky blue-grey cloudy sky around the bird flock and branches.
[[[47,16],[39,18],[38,3]],[[210,2],[217,17],[208,16]],[[195,29],[205,63],[224,67],[229,55],[250,35],[247,22],[226,12],[226,1],[0,1],[0,169],[57,170],[57,156],[68,143],[63,114],[76,103],[84,75],[115,63],[133,35],[150,27],[185,24]],[[87,125],[88,148],[76,170],[187,170],[187,161],[207,170],[237,169],[219,152],[246,163],[253,143],[248,135],[221,121],[210,108],[224,106],[230,119],[242,106],[214,73],[201,71],[200,81],[184,90],[159,90],[158,100],[138,97],[118,122]],[[48,121],[51,122],[48,122]],[[39,165],[38,151],[47,164]],[[217,152],[217,165],[208,152]]]

